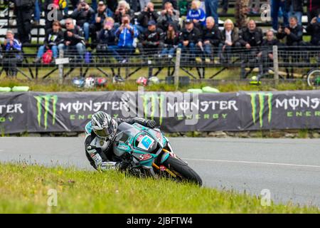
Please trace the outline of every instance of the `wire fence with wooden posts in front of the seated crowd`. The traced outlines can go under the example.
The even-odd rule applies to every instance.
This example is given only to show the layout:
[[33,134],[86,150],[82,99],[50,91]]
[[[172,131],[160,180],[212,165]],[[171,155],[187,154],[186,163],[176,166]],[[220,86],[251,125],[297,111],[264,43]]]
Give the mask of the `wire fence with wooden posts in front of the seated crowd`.
[[112,78],[120,75],[126,79],[134,74],[151,77],[174,76],[176,72],[180,72],[193,79],[211,79],[228,68],[240,68],[239,74],[228,76],[228,79],[245,79],[253,70],[261,78],[294,78],[297,77],[294,74],[296,72],[299,76],[304,76],[309,69],[320,67],[320,47],[262,46],[246,49],[195,46],[123,49],[104,46],[87,51],[82,46],[79,50],[75,47],[60,48],[56,58],[66,61],[57,62],[53,58],[50,63],[43,63],[40,58],[34,63],[35,54],[4,53],[0,59],[1,74],[14,77],[21,75],[30,80],[64,80],[75,76],[75,70],[80,70],[77,76],[85,77],[97,72],[100,76]]

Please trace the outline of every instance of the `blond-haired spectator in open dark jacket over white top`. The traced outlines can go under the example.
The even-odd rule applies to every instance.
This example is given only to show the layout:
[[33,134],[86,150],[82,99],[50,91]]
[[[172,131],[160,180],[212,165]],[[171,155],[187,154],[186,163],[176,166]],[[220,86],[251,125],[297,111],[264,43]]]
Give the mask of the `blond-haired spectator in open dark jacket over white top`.
[[235,28],[233,21],[231,21],[230,19],[225,20],[223,27],[224,27],[222,31],[223,46],[221,50],[220,59],[223,62],[229,62],[230,55],[231,55],[231,48],[240,47],[240,43],[238,42],[239,32],[238,32],[238,28]]

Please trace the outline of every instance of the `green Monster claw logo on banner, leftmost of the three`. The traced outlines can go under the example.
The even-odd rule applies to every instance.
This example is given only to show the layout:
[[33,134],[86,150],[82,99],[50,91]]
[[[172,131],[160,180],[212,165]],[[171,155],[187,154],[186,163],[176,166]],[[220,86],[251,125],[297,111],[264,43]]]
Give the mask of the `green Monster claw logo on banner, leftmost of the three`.
[[[58,95],[37,95],[34,96],[37,100],[37,109],[38,109],[38,125],[41,127],[41,118],[43,115],[43,125],[44,128],[48,128],[48,113],[52,114],[52,124],[55,124],[55,113],[56,113],[56,104],[58,101]],[[50,101],[52,103],[52,110],[50,110]],[[44,104],[43,104],[44,102]]]

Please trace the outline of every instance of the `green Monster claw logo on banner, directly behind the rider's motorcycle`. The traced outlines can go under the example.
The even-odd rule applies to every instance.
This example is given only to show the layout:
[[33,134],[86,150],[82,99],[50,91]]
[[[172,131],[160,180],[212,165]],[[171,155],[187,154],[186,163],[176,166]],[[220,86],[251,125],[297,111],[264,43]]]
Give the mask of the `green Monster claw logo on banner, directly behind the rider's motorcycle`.
[[160,94],[144,94],[141,96],[144,103],[144,118],[151,118],[154,120],[154,117],[159,117],[159,124],[162,124],[162,118],[166,113],[164,110],[164,99],[165,96]]

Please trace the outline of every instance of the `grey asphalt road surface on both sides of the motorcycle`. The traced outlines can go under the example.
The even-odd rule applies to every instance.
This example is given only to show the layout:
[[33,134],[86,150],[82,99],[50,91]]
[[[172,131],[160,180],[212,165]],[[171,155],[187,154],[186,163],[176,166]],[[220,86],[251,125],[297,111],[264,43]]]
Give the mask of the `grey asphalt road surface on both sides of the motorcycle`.
[[[84,138],[0,138],[0,160],[92,169]],[[320,140],[171,138],[204,185],[320,207]]]

